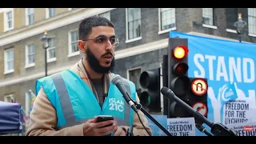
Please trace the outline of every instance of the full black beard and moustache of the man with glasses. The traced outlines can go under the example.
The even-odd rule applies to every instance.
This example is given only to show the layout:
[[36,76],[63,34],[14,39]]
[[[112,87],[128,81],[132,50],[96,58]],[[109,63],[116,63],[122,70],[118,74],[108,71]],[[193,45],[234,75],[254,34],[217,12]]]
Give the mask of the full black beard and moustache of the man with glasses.
[[[90,51],[89,47],[87,47],[86,49],[86,56],[87,56],[87,61],[90,65],[90,67],[92,68],[92,70],[94,70],[96,73],[98,74],[107,74],[110,71],[114,70],[114,56],[111,52],[107,52],[106,54],[103,54],[101,56],[104,57],[107,54],[111,54],[112,55],[112,61],[109,67],[105,67],[105,66],[101,66],[98,59],[95,57],[95,55]],[[109,62],[106,62],[106,64],[108,64]]]

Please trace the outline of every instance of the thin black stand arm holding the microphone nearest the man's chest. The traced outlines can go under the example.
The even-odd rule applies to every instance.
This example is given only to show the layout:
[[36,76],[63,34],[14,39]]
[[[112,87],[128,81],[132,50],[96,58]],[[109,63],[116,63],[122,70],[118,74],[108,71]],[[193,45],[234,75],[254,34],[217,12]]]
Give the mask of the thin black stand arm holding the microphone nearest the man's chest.
[[[132,100],[130,98],[130,100]],[[133,101],[133,100],[132,100]],[[173,136],[170,134],[168,130],[166,130],[158,121],[156,121],[146,110],[143,109],[142,105],[138,102],[134,102],[138,110],[141,110],[143,114],[145,114],[152,122],[154,122],[155,125],[157,125],[164,133],[166,133],[167,136]]]

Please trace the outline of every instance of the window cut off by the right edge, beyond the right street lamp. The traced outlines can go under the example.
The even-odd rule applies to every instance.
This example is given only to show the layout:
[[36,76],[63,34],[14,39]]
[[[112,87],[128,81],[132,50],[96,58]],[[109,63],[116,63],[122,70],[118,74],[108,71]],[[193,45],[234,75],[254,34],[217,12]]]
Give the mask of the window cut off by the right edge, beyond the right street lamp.
[[249,34],[256,36],[256,8],[248,8],[248,29]]

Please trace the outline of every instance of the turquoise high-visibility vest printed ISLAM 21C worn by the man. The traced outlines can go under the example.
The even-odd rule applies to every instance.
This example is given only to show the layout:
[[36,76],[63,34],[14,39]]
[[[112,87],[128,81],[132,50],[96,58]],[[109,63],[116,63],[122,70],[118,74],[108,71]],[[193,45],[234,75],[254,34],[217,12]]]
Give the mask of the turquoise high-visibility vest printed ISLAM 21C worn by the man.
[[[125,78],[122,78],[122,82],[128,93],[130,92],[130,98],[135,101],[136,88],[134,83]],[[41,87],[56,110],[58,130],[67,126],[82,124],[98,115],[114,116],[118,126],[133,125],[134,111],[113,83],[110,83],[102,109],[92,90],[72,70],[63,70],[57,74],[38,79],[35,84],[36,94]]]

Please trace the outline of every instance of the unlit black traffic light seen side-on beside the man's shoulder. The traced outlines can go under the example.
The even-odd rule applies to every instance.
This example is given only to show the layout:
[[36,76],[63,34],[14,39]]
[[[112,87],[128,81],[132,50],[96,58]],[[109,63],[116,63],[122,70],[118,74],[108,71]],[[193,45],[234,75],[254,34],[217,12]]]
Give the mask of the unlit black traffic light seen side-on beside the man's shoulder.
[[139,78],[140,85],[146,89],[140,94],[140,103],[149,112],[160,112],[160,68],[143,71]]

